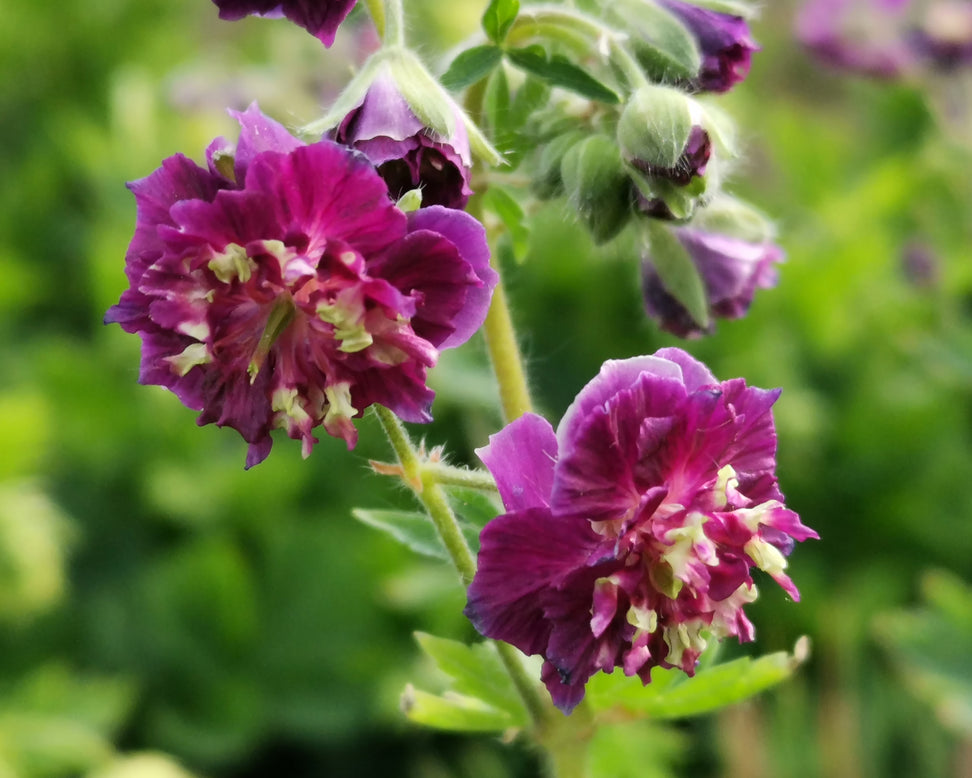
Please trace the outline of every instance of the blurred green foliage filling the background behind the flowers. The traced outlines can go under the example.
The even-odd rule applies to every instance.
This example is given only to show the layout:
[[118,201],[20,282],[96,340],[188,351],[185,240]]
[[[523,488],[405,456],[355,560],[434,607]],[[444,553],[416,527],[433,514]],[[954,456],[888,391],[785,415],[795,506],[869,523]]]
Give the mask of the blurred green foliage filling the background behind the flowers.
[[[481,5],[408,3],[431,19],[412,32],[444,50]],[[803,602],[765,582],[751,616],[756,651],[808,634],[814,656],[758,704],[611,730],[604,774],[649,775],[611,762],[618,737],[670,755],[658,775],[960,774],[963,735],[912,696],[872,622],[927,568],[969,574],[972,137],[927,84],[821,71],[789,38],[792,10],[765,9],[752,76],[725,98],[748,154],[732,185],[779,220],[788,262],[748,318],[688,348],[784,389],[781,483],[822,540],[793,556]],[[244,472],[238,436],[138,386],[137,339],[100,323],[125,285],[123,182],[232,137],[227,106],[314,118],[364,33],[322,52],[284,22],[219,23],[206,0],[0,12],[0,776],[535,774],[529,754],[398,712],[425,672],[412,630],[473,635],[448,569],[351,519],[413,507],[368,473],[389,456],[374,421],[351,454],[328,439],[304,462],[282,439]],[[605,358],[676,341],[641,310],[634,247],[595,258],[562,204],[530,221],[507,283],[556,420]],[[933,257],[919,276],[917,245]],[[434,381],[418,433],[471,462],[499,424],[481,343]],[[172,758],[120,756],[139,752]]]

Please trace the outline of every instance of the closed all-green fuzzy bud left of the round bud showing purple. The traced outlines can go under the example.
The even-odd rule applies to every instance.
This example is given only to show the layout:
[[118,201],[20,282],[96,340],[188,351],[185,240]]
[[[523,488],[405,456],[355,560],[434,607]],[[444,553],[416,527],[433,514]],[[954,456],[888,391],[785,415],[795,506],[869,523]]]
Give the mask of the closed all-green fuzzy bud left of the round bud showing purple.
[[596,243],[605,243],[631,217],[631,182],[617,145],[605,135],[575,143],[560,164],[564,191]]

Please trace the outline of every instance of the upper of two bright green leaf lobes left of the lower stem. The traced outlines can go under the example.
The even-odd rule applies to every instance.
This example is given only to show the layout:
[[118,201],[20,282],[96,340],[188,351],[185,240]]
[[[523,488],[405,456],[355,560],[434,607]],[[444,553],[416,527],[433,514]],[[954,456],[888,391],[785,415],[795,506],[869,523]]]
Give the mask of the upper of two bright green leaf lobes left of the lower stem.
[[492,643],[467,646],[424,632],[416,632],[415,639],[436,666],[452,679],[455,692],[504,711],[512,724],[526,724],[527,711]]

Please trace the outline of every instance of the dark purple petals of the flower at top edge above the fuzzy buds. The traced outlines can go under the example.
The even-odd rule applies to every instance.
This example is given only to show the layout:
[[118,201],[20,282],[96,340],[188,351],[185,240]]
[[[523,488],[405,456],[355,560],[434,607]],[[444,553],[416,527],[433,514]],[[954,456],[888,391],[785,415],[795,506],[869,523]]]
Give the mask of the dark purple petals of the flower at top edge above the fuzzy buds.
[[728,92],[749,73],[752,55],[759,47],[741,16],[699,8],[682,0],[661,0],[695,36],[702,67],[693,86],[703,92]]

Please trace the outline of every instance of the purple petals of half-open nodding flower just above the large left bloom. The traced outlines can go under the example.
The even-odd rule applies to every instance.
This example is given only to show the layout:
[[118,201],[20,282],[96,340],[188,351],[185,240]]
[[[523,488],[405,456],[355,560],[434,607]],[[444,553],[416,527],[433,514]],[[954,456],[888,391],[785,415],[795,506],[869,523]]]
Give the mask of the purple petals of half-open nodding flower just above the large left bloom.
[[438,135],[415,115],[394,77],[383,72],[362,102],[341,120],[334,139],[363,152],[393,197],[421,187],[422,205],[463,208],[472,194],[472,157],[458,107],[454,115],[454,136]]

